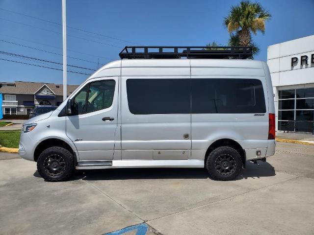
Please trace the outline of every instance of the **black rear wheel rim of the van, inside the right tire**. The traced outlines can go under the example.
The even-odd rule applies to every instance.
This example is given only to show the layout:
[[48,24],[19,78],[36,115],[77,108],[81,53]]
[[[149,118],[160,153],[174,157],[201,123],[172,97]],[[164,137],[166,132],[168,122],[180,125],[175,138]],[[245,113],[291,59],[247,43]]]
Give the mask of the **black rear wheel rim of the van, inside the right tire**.
[[220,155],[215,161],[215,168],[221,175],[230,175],[235,171],[235,158],[227,153]]

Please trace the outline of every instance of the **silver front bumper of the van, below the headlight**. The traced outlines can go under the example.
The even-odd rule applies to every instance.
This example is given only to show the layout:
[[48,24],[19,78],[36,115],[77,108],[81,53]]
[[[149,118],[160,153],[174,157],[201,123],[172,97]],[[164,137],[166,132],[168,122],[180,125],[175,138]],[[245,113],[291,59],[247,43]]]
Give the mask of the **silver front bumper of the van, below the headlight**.
[[38,141],[31,139],[29,133],[21,133],[19,155],[28,161],[34,161],[34,151]]

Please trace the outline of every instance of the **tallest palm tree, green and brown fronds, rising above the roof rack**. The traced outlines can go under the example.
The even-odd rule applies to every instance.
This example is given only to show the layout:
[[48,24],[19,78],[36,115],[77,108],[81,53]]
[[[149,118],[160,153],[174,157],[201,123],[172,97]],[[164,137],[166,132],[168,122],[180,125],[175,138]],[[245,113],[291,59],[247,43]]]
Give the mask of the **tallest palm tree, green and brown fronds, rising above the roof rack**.
[[237,37],[237,46],[249,47],[253,42],[252,33],[264,34],[265,22],[270,18],[270,13],[259,2],[242,0],[239,5],[231,7],[229,15],[224,19],[224,25],[231,36]]

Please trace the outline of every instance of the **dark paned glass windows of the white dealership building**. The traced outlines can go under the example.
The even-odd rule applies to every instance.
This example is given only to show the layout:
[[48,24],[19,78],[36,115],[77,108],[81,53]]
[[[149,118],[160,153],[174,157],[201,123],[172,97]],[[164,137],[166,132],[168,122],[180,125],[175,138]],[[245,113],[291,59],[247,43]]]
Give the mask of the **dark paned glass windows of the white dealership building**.
[[279,91],[278,130],[312,132],[306,121],[314,121],[314,88]]

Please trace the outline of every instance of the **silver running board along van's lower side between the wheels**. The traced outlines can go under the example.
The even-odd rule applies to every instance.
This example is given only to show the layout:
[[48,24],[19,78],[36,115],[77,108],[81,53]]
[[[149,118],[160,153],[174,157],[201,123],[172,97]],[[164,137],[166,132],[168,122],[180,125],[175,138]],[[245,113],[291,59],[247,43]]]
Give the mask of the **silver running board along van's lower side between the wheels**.
[[113,161],[81,161],[76,169],[107,169],[107,168],[154,168],[183,167],[203,168],[204,160],[113,160]]

